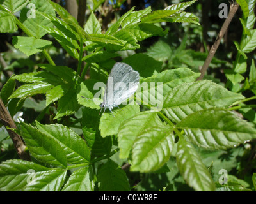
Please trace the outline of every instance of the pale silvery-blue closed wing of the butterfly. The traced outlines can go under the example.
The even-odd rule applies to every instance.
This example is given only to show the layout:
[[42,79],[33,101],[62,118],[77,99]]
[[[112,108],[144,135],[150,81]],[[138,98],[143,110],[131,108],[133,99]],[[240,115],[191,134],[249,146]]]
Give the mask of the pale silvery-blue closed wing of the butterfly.
[[104,102],[107,105],[120,105],[137,90],[140,82],[139,73],[131,66],[117,62],[109,74]]

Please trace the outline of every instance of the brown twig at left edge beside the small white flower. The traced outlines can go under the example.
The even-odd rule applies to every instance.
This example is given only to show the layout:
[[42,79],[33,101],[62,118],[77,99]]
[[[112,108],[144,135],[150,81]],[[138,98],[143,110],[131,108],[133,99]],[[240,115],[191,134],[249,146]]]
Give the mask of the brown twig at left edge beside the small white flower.
[[[4,103],[1,98],[0,98],[0,119],[1,119],[2,124],[5,127],[17,129],[17,126],[16,126],[12,116],[8,112],[7,108],[4,106]],[[12,138],[13,144],[15,146],[15,149],[17,150],[17,153],[18,153],[20,159],[30,160],[29,153],[27,151],[25,151],[26,145],[24,144],[20,135],[15,133],[12,129],[7,129],[7,132],[9,133],[10,137]]]

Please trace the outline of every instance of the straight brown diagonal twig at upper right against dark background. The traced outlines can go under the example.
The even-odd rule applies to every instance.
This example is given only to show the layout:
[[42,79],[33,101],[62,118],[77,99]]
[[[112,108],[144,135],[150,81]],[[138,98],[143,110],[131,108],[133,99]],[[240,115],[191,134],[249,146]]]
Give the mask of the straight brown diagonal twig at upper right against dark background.
[[209,67],[209,64],[212,61],[212,58],[214,57],[216,50],[218,49],[219,45],[220,45],[220,41],[221,38],[223,38],[224,34],[226,33],[227,29],[228,29],[228,25],[230,24],[230,22],[232,21],[234,15],[236,14],[236,11],[239,8],[239,4],[234,3],[230,6],[230,11],[228,13],[228,18],[225,20],[224,24],[222,25],[221,29],[220,29],[220,33],[218,34],[214,44],[211,47],[211,50],[204,62],[204,65],[202,66],[201,69],[201,75],[200,77],[197,78],[197,80],[202,80],[202,78],[204,78],[204,75],[207,71],[207,68]]

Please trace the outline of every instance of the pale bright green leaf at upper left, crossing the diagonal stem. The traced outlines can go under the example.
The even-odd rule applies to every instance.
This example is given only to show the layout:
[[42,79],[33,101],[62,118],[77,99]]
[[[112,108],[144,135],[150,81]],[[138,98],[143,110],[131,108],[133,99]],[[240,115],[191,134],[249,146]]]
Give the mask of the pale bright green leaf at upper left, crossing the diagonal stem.
[[42,52],[45,48],[52,44],[49,40],[36,39],[34,37],[13,36],[12,43],[15,48],[26,54],[30,55]]

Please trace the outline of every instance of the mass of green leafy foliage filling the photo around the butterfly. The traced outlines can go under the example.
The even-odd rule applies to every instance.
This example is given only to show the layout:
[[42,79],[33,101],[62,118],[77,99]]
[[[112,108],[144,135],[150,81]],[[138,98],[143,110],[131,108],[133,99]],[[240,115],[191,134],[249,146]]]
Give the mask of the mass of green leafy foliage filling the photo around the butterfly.
[[[244,105],[255,99],[256,92],[255,61],[251,58],[249,61],[248,57],[256,48],[255,0],[237,1],[243,10],[240,19],[243,34],[240,43],[234,42],[237,57],[225,69],[228,79],[225,87],[216,84],[217,79],[196,81],[200,75],[197,68],[207,54],[186,49],[188,35],[178,46],[168,43],[168,32],[172,31],[161,26],[163,22],[179,22],[199,27],[199,18],[185,12],[196,0],[173,4],[164,10],[152,10],[153,6],[142,10],[132,7],[109,24],[106,32],[102,32],[102,22],[95,15],[103,2],[92,1],[90,15],[81,27],[63,6],[50,0],[0,1],[0,32],[14,33],[18,27],[24,32],[12,37],[12,48],[22,57],[4,71],[29,67],[6,79],[1,98],[12,117],[19,110],[29,115],[15,131],[22,136],[31,156],[31,161],[1,157],[0,190],[255,189],[255,173],[249,173],[246,181],[231,175],[236,168],[239,171],[256,168],[255,161],[251,169],[243,169],[243,159],[238,161],[250,155],[248,144],[244,143],[256,138],[256,121],[250,117],[255,116],[255,106]],[[34,12],[27,7],[28,3],[35,4],[35,18],[27,15]],[[17,11],[19,18],[15,16]],[[134,96],[134,101],[141,105],[115,108],[115,117],[109,112],[99,115],[99,104],[91,100],[98,91],[93,87],[95,83],[106,83],[120,56],[142,49],[143,41],[152,37],[160,40],[144,53],[122,59],[140,73],[140,84],[145,85],[138,91],[143,98]],[[75,66],[55,63],[58,57],[54,62],[51,55],[58,53],[58,47],[65,53],[61,55],[78,63]],[[216,57],[211,67],[226,63],[227,60]],[[246,73],[249,76],[245,79]],[[161,83],[163,91],[156,101],[152,98],[158,96],[157,83]],[[246,91],[254,95],[248,98]],[[31,108],[35,115],[29,113]],[[0,142],[4,149],[8,136],[2,133]],[[125,163],[131,164],[129,171],[121,168]],[[231,178],[224,185],[218,175],[223,165],[229,168],[228,178]],[[136,173],[140,173],[141,180],[134,186]],[[154,183],[160,175],[168,182]],[[152,189],[149,182],[153,182]]]

